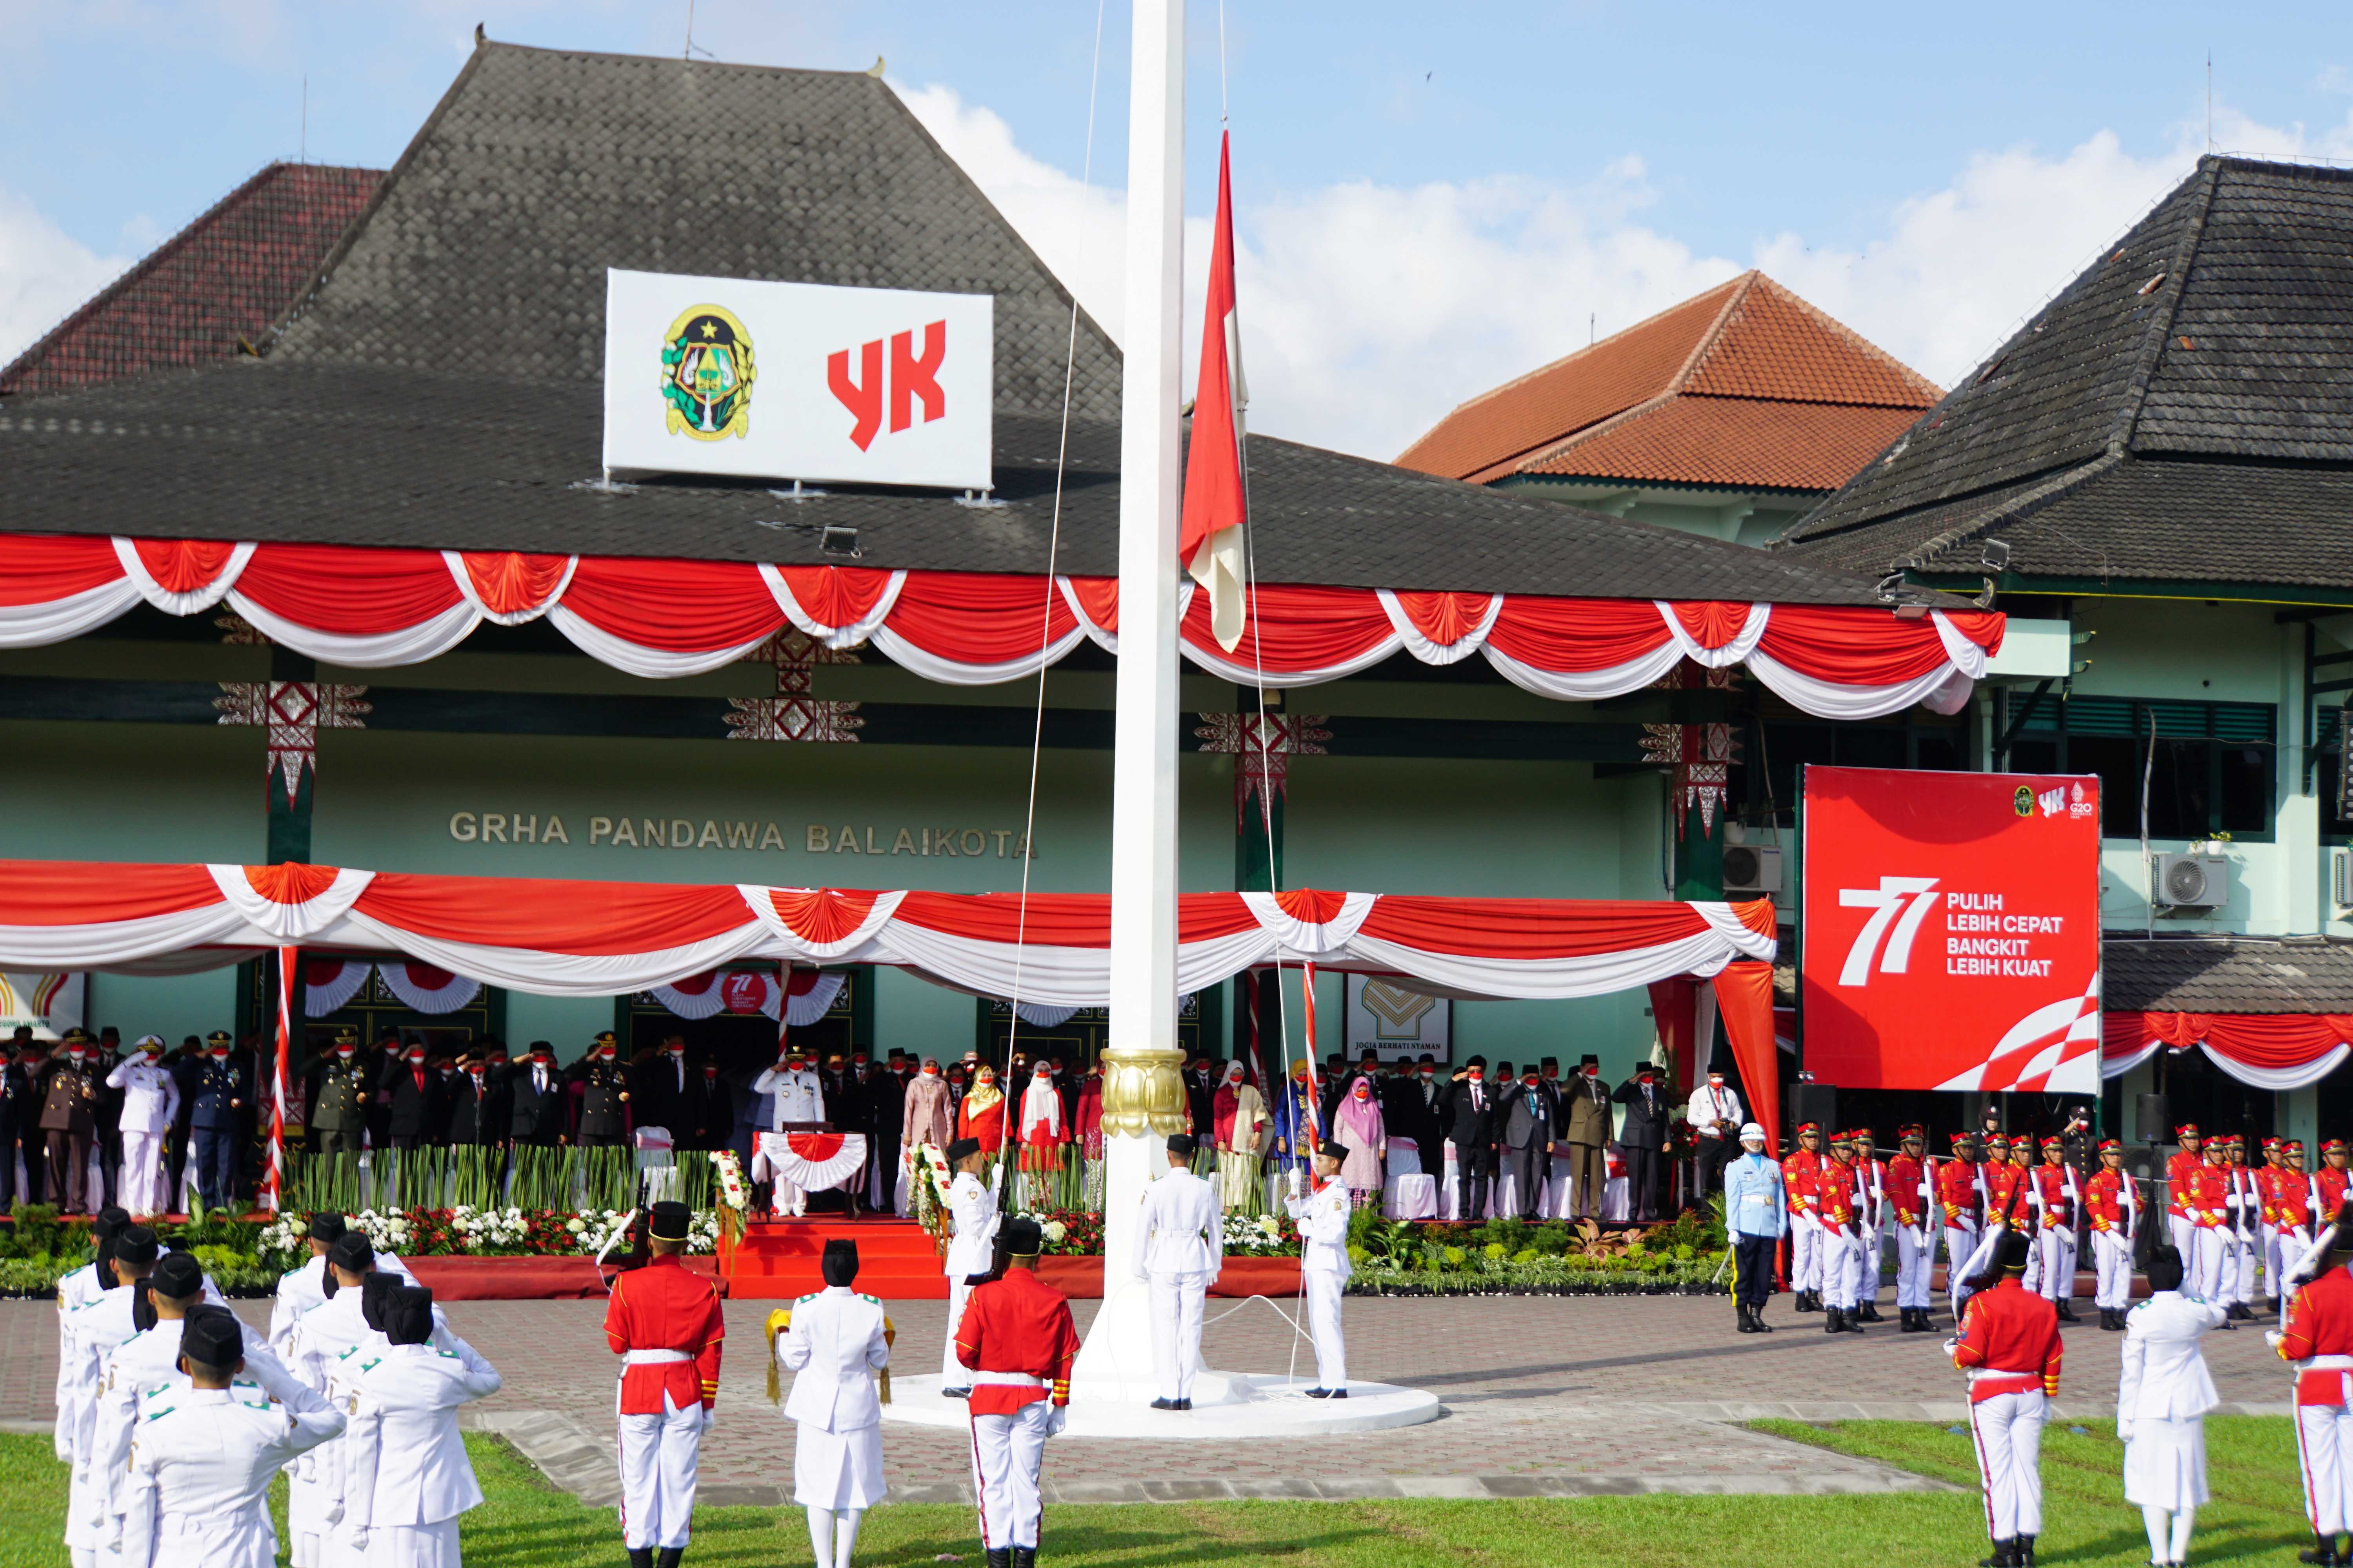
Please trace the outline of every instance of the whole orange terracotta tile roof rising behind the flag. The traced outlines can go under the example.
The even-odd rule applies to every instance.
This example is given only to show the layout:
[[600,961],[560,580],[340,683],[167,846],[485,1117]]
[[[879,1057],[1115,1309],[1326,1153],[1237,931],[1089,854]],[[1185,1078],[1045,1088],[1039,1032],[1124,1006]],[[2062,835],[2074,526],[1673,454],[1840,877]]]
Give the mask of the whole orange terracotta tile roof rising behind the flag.
[[[1718,407],[1680,407],[1689,402]],[[1833,489],[1934,402],[1937,388],[1899,360],[1772,277],[1741,273],[1473,397],[1398,463],[1480,484],[1541,473]]]

